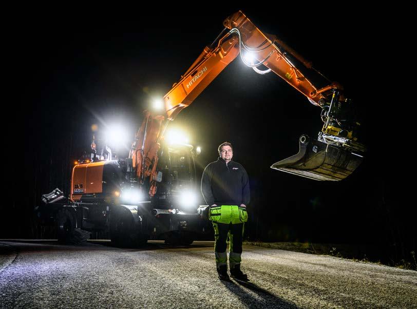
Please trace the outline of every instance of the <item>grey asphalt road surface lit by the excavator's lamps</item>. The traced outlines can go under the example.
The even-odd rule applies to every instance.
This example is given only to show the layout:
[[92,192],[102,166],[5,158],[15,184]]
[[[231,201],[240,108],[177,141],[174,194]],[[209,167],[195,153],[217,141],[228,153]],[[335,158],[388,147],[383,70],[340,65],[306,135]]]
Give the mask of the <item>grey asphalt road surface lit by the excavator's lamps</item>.
[[250,283],[217,278],[213,242],[0,241],[1,308],[417,308],[417,272],[244,246]]

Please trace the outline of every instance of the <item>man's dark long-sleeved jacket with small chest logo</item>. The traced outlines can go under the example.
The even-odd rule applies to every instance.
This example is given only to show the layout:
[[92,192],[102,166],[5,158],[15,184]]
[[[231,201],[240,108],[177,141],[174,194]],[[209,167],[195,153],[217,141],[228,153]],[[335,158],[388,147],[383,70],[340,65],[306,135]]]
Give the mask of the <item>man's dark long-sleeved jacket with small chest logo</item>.
[[237,162],[219,157],[207,165],[201,179],[201,192],[207,205],[248,205],[251,199],[248,173]]

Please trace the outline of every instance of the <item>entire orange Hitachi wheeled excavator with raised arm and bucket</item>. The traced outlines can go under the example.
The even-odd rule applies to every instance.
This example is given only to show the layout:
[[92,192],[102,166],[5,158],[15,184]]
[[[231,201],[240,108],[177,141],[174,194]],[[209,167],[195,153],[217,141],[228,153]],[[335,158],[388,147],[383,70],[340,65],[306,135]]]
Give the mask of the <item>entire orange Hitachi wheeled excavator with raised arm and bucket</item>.
[[[164,133],[238,55],[259,74],[277,74],[321,108],[324,125],[317,139],[301,136],[298,153],[271,168],[313,180],[340,181],[361,164],[366,149],[357,140],[359,123],[343,87],[323,78],[311,62],[276,36],[260,31],[241,11],[223,25],[216,40],[165,94],[164,115],[144,112],[129,158],[111,160],[110,151],[106,160],[80,161],[72,170],[68,198],[59,189],[43,196],[45,205],[37,207],[37,213],[44,224],[58,228],[60,240],[81,228],[105,231],[116,243],[156,238],[189,244],[204,230],[207,225],[199,215],[204,206],[192,205],[190,213],[183,205],[192,201],[189,192],[198,194],[196,153],[191,145],[166,144]],[[324,85],[313,83],[305,71],[316,72]]]

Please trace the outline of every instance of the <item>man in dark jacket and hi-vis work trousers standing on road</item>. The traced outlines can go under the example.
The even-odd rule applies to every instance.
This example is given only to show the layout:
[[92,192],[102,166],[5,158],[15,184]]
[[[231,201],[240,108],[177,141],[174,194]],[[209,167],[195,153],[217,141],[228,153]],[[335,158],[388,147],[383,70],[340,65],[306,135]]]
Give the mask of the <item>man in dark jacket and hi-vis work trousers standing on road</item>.
[[243,227],[248,221],[246,205],[250,201],[248,173],[232,161],[233,147],[224,142],[219,148],[217,161],[206,166],[201,179],[201,192],[209,205],[209,219],[213,222],[217,273],[220,280],[230,280],[226,240],[230,239],[229,263],[232,278],[248,280],[240,270]]

